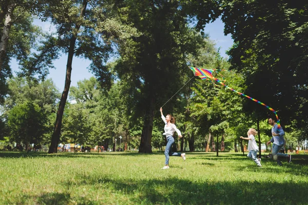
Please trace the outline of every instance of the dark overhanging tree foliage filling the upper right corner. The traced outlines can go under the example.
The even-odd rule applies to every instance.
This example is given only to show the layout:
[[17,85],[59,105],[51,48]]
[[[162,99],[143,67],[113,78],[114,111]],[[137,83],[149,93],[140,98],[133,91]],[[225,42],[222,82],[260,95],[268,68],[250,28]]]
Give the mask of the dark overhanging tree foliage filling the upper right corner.
[[[245,77],[246,94],[278,111],[281,124],[298,116],[306,121],[306,2],[220,1],[225,34],[236,44],[229,51],[232,67]],[[264,119],[268,113],[253,102],[245,110]],[[305,126],[298,121],[297,126]]]

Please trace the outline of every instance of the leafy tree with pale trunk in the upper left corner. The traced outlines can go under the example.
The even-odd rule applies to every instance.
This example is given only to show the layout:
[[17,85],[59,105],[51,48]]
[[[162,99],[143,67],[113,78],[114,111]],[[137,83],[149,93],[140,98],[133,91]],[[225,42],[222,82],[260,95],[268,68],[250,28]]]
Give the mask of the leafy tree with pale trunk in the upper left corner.
[[[41,29],[32,25],[33,17],[17,2],[0,3],[0,29],[3,28],[0,42],[0,103],[7,94],[7,78],[12,76],[9,62],[12,58],[22,61],[35,48],[35,39]],[[20,4],[21,5],[21,4]]]

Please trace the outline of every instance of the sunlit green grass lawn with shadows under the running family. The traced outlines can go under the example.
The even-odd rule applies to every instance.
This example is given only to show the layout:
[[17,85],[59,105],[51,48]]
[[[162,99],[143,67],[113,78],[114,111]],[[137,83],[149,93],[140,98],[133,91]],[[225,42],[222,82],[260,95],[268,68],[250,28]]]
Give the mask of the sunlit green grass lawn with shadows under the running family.
[[0,152],[0,204],[308,204],[308,155]]

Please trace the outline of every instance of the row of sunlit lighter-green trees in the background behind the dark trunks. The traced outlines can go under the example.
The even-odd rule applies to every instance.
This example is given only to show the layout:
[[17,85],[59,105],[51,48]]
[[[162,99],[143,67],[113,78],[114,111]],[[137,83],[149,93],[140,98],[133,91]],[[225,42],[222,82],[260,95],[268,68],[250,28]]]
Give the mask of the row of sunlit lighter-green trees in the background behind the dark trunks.
[[[215,53],[212,54],[210,62],[216,58]],[[232,72],[226,72],[224,77],[234,88],[243,82],[240,76]],[[26,149],[29,144],[49,145],[54,111],[60,99],[52,81],[31,84],[25,78],[12,78],[8,85],[10,95],[2,110],[7,119],[3,129],[6,132],[2,132],[5,139],[27,145]],[[235,150],[238,143],[243,148],[238,136],[249,127],[255,127],[254,121],[247,120],[242,112],[243,99],[199,78],[190,86],[185,87],[190,97],[179,96],[174,108],[177,126],[184,133],[183,140],[177,141],[178,149],[224,151],[233,149],[233,143]],[[142,117],[137,117],[138,109],[128,109],[133,105],[129,99],[130,89],[121,80],[115,81],[108,91],[104,91],[94,77],[79,81],[78,86],[70,90],[70,99],[74,103],[66,105],[61,142],[115,149],[114,139],[123,136],[122,149],[138,149]],[[166,109],[168,107],[167,104]],[[152,147],[161,149],[165,145],[163,124],[158,111],[155,115]],[[261,142],[269,139],[269,129],[266,120],[260,122]],[[288,134],[287,138],[287,145],[294,148],[298,140],[296,133]]]

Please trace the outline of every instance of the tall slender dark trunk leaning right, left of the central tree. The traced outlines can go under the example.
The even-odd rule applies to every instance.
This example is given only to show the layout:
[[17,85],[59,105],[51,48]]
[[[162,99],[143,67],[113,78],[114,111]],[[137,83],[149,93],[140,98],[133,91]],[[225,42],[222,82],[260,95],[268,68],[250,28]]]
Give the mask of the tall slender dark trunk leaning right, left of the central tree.
[[[88,4],[88,1],[84,0],[83,7],[80,12],[80,16],[85,15],[87,4]],[[76,25],[74,30],[79,31],[80,27],[81,25]],[[73,61],[73,56],[74,56],[74,48],[75,48],[76,39],[77,39],[77,35],[72,34],[71,39],[70,39],[70,44],[69,44],[68,57],[67,57],[64,91],[61,95],[59,108],[56,113],[55,126],[54,126],[54,130],[53,130],[53,134],[52,134],[52,138],[50,142],[50,147],[48,151],[49,154],[57,152],[57,145],[59,144],[59,140],[60,140],[62,117],[63,117],[64,107],[66,104],[68,91],[69,91],[70,83],[71,83],[70,79],[71,79],[71,72],[72,72],[72,61]]]

